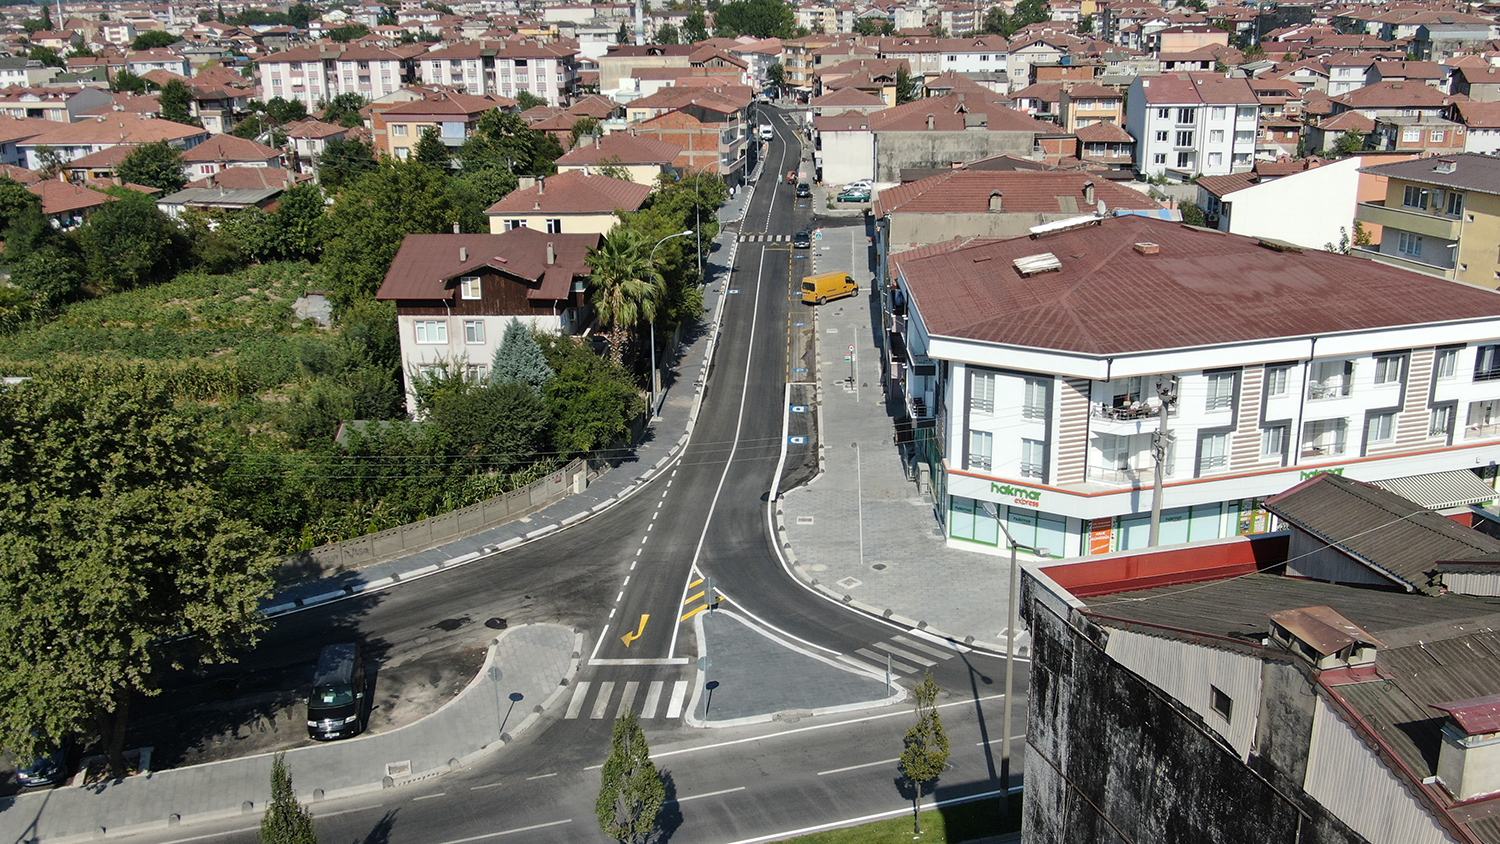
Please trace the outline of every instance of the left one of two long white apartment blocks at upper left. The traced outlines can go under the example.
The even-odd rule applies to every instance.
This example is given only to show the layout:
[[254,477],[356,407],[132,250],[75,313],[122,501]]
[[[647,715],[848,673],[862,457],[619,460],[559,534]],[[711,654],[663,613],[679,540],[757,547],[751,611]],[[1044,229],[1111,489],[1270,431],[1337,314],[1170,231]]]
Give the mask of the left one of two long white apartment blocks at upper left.
[[358,45],[315,43],[273,52],[255,63],[266,99],[298,100],[308,111],[342,93],[366,102],[412,81],[414,63],[400,52]]

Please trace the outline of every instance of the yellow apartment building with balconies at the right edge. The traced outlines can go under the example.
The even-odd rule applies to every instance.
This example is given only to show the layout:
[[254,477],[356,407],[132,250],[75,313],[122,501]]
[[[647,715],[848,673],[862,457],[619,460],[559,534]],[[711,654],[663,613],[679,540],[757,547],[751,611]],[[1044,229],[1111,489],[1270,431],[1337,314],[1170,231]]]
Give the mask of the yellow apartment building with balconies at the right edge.
[[1368,253],[1383,264],[1500,288],[1500,159],[1478,153],[1368,166],[1383,175],[1383,199],[1360,202],[1354,219],[1380,225]]

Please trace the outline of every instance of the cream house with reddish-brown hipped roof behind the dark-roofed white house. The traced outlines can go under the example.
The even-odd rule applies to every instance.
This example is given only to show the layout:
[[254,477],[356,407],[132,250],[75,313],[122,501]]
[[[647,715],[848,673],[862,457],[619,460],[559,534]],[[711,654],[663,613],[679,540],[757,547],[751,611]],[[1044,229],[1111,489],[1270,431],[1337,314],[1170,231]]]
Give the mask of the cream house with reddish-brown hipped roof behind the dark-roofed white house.
[[650,184],[568,171],[524,184],[484,213],[494,234],[530,228],[546,234],[608,234],[618,211],[640,208]]

